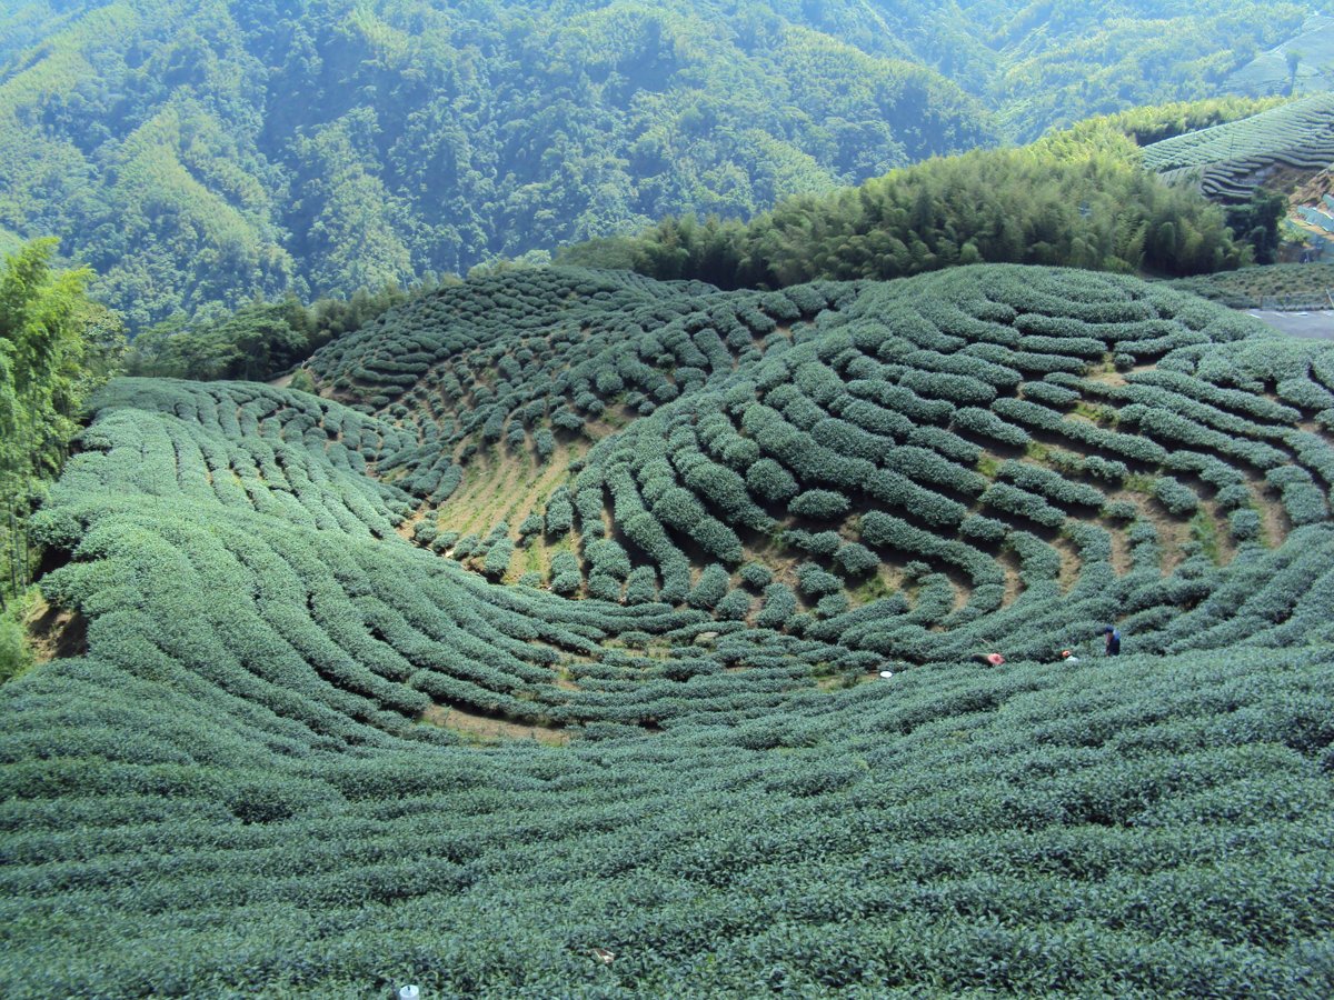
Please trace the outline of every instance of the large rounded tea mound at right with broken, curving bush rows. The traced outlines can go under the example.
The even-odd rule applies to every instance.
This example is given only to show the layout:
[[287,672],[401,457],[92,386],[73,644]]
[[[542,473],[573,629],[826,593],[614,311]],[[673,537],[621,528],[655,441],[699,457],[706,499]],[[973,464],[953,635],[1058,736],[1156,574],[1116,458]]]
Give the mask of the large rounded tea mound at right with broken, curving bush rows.
[[[1121,613],[1135,584],[1125,567],[1111,569],[1110,541],[1089,548],[1095,521],[1098,537],[1119,533],[1122,548],[1141,553],[1135,572],[1158,573],[1194,565],[1175,556],[1182,543],[1163,525],[1186,531],[1202,503],[1233,515],[1221,529],[1234,545],[1261,539],[1251,520],[1259,516],[1255,481],[1267,483],[1287,521],[1327,520],[1329,443],[1298,428],[1317,415],[1263,393],[1282,381],[1289,396],[1305,393],[1314,405],[1319,349],[1270,341],[1199,300],[1126,279],[976,268],[844,288],[822,287],[830,307],[794,327],[791,341],[775,325],[760,357],[738,360],[726,377],[594,448],[574,480],[580,523],[594,529],[584,539],[586,587],[598,575],[587,547],[608,520],[631,565],[651,567],[662,580],[658,599],[671,604],[695,587],[690,565],[698,575],[720,561],[735,572],[748,551],[767,560],[806,553],[842,585],[811,589],[794,576],[786,583],[795,604],[779,591],[747,619],[798,635],[827,620],[822,633],[839,635],[838,623],[867,600],[862,575],[876,568],[836,557],[860,540],[886,567],[924,559],[938,572],[962,573],[948,607],[882,608],[883,633],[895,632],[896,615],[967,627],[948,640],[878,640],[888,655],[935,659],[1005,639],[978,623],[1039,583],[1043,607],[1065,608],[1043,619],[1063,619],[1059,631],[1075,628],[1079,615]],[[1257,337],[1251,348],[1247,339]],[[1139,367],[1107,377],[1127,344],[1137,344]],[[1282,361],[1290,349],[1305,351],[1305,360]],[[1226,364],[1249,351],[1267,356],[1278,375]],[[1145,365],[1149,355],[1155,360]],[[1034,357],[1045,375],[1025,381],[1019,372]],[[1289,468],[1302,461],[1310,471]],[[558,528],[566,504],[558,493],[548,507]],[[886,535],[875,523],[882,515],[902,527]],[[691,605],[740,613],[740,596],[719,612],[727,593],[715,589]],[[626,599],[600,583],[596,595]],[[1025,601],[1030,616],[1034,600]],[[1041,641],[1043,649],[1061,643],[1055,635]]]

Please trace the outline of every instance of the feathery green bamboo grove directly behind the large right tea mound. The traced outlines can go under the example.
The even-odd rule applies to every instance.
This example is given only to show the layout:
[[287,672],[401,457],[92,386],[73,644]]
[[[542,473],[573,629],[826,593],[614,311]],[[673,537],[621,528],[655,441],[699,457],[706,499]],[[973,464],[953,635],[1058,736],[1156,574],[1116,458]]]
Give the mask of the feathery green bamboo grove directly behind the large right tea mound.
[[1169,275],[1235,268],[1254,245],[1271,249],[1281,207],[1259,221],[1250,205],[1230,216],[1191,185],[1143,169],[1134,136],[1247,107],[1098,119],[1021,149],[932,159],[856,188],[791,197],[750,221],[664,219],[636,236],[567,247],[559,259],[723,288],[892,279],[983,261]]

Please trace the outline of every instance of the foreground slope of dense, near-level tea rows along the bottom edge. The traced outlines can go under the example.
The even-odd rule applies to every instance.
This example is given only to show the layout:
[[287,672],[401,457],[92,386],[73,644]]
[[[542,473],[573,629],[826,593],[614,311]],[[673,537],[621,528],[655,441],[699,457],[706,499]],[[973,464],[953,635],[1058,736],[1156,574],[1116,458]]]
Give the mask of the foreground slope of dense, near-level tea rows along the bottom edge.
[[482,751],[265,743],[133,663],[0,693],[9,996],[1334,984],[1314,649],[899,671]]

